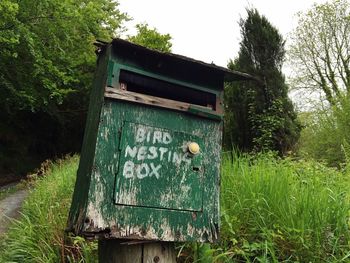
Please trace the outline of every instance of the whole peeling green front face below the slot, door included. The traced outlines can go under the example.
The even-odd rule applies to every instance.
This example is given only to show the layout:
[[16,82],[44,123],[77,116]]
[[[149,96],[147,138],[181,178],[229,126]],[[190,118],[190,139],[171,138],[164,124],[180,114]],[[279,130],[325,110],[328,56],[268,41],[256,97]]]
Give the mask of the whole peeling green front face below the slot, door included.
[[[218,234],[212,232],[211,222],[218,225],[219,193],[219,170],[213,164],[220,162],[220,151],[208,149],[220,148],[220,123],[114,100],[105,101],[101,120],[86,214],[90,225],[83,232],[110,229],[112,237],[213,241]],[[140,128],[146,134],[137,142]],[[163,137],[157,139],[160,133]],[[153,167],[162,164],[159,178],[140,179],[136,168],[125,176],[124,166],[130,160],[151,167],[153,154],[140,154],[140,149],[154,146],[159,151],[169,140],[164,134],[170,134],[171,142],[163,147],[169,150],[162,161],[160,152],[154,159]],[[199,143],[198,156],[187,157],[190,141]],[[181,161],[173,162],[175,152],[183,154]],[[151,158],[146,160],[147,154]]]

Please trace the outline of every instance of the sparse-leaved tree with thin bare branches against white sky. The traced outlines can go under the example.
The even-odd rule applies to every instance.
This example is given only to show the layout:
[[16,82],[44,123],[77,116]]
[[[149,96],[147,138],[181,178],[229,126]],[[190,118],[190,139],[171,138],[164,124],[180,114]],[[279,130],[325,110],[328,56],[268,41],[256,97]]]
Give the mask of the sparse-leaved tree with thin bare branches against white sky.
[[321,91],[335,105],[350,93],[350,5],[347,0],[315,4],[299,13],[289,50],[295,88]]

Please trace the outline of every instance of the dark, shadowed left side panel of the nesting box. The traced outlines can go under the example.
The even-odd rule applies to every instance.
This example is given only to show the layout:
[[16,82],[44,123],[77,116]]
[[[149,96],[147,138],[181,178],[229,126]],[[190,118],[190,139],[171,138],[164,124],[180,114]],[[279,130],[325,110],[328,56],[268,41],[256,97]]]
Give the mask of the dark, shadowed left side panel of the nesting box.
[[68,230],[79,234],[84,224],[90,176],[93,169],[97,131],[103,103],[103,93],[106,86],[107,67],[110,57],[110,47],[99,54],[93,87],[90,94],[89,110],[86,119],[83,145],[80,155],[77,179],[68,217]]

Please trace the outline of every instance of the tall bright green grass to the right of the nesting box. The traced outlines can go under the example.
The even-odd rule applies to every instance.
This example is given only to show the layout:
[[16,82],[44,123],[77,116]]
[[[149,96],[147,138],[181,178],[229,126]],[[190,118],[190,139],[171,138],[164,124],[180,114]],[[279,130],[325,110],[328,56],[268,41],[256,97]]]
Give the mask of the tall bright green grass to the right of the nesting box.
[[315,162],[228,155],[219,261],[339,262],[350,253],[349,174]]

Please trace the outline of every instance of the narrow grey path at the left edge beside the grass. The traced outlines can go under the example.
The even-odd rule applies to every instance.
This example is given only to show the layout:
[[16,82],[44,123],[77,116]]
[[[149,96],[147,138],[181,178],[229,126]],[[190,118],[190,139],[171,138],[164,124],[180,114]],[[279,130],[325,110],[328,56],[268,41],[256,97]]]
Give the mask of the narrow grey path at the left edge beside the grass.
[[20,190],[0,201],[0,236],[7,231],[11,219],[19,216],[19,210],[27,194],[28,190]]

